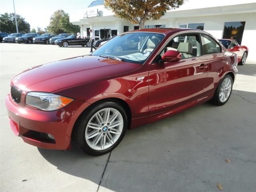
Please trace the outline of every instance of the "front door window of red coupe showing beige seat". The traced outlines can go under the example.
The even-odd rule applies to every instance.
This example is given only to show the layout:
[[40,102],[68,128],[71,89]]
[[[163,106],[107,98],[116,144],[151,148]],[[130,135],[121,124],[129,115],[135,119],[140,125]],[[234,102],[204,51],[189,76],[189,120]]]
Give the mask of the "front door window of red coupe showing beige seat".
[[178,51],[182,59],[201,56],[201,45],[199,34],[182,34],[174,37],[164,48],[161,56],[168,50]]

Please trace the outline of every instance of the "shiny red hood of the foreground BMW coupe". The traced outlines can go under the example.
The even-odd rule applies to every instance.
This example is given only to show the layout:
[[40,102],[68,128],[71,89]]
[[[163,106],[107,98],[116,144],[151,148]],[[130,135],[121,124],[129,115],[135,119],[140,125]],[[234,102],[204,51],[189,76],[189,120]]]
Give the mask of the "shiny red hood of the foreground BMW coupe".
[[86,55],[29,68],[15,76],[11,84],[25,92],[54,92],[120,76],[141,66],[141,64]]

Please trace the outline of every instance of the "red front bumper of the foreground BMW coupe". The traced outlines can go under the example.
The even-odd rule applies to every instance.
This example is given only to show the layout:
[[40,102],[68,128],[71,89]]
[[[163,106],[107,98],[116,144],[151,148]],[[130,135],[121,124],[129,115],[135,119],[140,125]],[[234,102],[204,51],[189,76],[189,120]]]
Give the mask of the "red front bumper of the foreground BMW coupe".
[[[23,99],[24,100],[24,99]],[[56,111],[41,111],[29,106],[16,104],[10,94],[6,96],[6,108],[10,127],[24,142],[39,148],[66,150],[70,148],[70,138],[76,119],[89,106],[88,103],[74,100],[68,106]],[[35,137],[34,133],[51,134],[55,140]]]

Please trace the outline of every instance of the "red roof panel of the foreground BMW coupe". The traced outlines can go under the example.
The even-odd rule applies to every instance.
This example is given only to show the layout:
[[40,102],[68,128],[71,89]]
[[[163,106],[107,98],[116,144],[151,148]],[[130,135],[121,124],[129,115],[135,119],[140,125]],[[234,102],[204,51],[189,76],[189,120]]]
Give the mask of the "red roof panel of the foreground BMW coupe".
[[155,32],[155,33],[162,33],[167,35],[167,34],[173,34],[176,32],[191,31],[191,30],[202,32],[202,30],[190,29],[190,28],[149,28],[149,29],[132,30],[129,32]]

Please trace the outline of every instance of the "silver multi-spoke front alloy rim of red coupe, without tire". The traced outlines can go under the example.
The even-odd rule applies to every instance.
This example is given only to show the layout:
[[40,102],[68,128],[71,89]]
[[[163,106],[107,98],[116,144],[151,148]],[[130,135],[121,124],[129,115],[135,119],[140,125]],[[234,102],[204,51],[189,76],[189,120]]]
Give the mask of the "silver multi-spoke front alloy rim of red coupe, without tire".
[[94,150],[106,150],[120,138],[124,128],[122,114],[114,108],[104,108],[90,118],[85,129],[85,140]]

